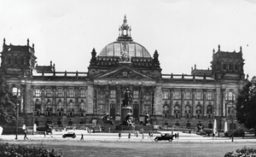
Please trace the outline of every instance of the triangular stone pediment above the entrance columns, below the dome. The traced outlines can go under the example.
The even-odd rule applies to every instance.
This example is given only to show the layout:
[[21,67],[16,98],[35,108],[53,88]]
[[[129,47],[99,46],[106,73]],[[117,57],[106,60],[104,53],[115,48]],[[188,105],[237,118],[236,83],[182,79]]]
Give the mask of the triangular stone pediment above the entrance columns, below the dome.
[[130,67],[121,67],[113,71],[103,73],[96,78],[122,78],[122,79],[152,79],[148,75],[137,72]]

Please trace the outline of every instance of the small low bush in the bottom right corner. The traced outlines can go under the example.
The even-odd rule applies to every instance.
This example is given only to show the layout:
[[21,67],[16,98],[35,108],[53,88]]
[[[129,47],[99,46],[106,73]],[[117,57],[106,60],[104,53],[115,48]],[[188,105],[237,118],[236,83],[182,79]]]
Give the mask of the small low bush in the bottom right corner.
[[236,151],[231,151],[226,154],[224,154],[224,157],[252,157],[256,156],[256,149],[255,148],[241,148],[241,149],[236,149]]

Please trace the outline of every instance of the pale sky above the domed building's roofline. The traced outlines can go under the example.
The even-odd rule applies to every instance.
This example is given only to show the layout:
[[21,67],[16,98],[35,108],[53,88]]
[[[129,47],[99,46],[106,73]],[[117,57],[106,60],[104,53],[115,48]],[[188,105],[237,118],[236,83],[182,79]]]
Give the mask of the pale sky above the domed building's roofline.
[[230,52],[241,46],[244,73],[256,75],[255,0],[2,0],[0,39],[25,45],[29,38],[39,66],[87,72],[90,52],[118,38],[125,15],[133,40],[160,54],[164,74],[211,68],[220,44]]

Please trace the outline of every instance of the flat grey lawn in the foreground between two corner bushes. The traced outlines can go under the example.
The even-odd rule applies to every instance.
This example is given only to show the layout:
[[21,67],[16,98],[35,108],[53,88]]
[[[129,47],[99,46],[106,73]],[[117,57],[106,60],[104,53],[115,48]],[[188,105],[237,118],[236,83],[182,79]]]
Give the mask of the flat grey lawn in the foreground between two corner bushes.
[[9,142],[55,148],[64,157],[79,156],[211,156],[220,157],[236,148],[256,148],[253,142],[80,142],[80,141],[20,141]]

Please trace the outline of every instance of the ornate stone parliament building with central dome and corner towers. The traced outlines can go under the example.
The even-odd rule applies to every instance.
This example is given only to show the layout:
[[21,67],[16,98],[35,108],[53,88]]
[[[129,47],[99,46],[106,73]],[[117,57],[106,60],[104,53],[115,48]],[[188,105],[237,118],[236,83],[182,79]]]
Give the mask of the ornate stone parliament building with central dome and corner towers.
[[[87,73],[55,72],[55,65],[38,66],[34,44],[6,44],[3,39],[1,71],[20,96],[19,125],[55,127],[100,125],[108,113],[121,120],[121,102],[131,91],[135,124],[150,116],[153,125],[218,129],[231,124],[236,96],[244,84],[242,49],[212,52],[212,68],[191,68],[190,74],[161,73],[159,53],[153,57],[131,38],[126,17],[119,37],[100,53],[92,49]],[[236,122],[236,119],[235,119]]]

